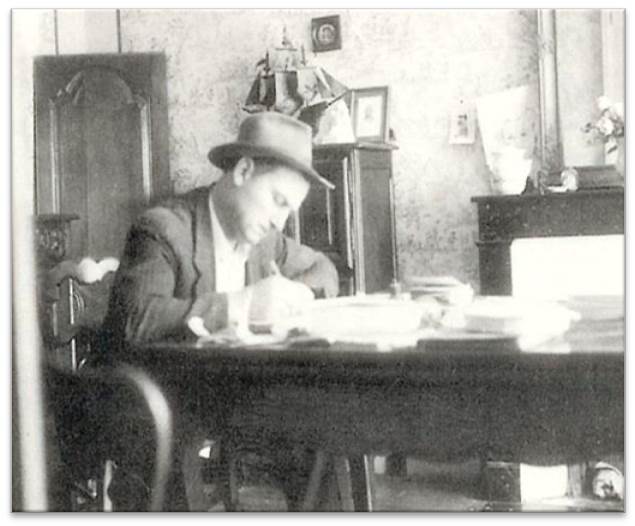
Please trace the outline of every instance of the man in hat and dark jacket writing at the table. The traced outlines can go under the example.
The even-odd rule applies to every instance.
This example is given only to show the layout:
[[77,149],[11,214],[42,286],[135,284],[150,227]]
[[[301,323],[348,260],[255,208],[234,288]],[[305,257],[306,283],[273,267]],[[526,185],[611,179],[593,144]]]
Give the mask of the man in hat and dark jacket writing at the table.
[[337,295],[331,261],[282,234],[310,183],[332,188],[311,166],[310,127],[279,113],[252,115],[235,142],[208,157],[223,170],[218,182],[132,226],[104,324],[109,353],[125,359],[128,343],[244,328],[315,295]]

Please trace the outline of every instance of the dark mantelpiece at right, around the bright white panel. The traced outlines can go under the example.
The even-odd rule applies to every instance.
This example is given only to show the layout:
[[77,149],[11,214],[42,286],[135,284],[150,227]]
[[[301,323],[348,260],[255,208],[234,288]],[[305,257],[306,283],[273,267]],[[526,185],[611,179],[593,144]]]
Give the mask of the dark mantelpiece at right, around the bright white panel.
[[514,239],[624,233],[624,189],[473,197],[478,209],[481,294],[512,293]]

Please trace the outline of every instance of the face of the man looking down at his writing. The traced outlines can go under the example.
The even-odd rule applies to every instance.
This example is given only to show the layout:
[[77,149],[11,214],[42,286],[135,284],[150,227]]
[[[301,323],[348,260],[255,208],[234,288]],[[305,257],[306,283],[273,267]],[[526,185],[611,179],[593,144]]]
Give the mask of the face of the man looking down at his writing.
[[309,186],[300,172],[285,166],[245,177],[234,201],[237,241],[255,245],[272,229],[281,231],[289,214],[300,208]]

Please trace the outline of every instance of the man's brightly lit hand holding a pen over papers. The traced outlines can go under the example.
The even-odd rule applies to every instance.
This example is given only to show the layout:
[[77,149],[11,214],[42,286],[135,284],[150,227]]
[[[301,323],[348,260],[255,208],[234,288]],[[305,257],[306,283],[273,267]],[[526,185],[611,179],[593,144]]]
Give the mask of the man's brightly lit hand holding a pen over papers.
[[284,319],[298,314],[313,301],[309,287],[278,274],[251,285],[250,321],[263,322]]

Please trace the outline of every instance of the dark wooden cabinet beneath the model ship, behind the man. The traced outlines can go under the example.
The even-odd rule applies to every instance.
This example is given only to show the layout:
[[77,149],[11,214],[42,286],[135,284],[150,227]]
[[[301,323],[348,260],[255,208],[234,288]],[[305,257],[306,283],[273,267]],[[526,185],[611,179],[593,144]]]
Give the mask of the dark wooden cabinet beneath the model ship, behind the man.
[[300,209],[300,240],[327,254],[340,294],[386,290],[396,274],[392,150],[382,143],[320,145],[315,169],[335,190],[314,187]]

